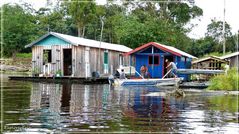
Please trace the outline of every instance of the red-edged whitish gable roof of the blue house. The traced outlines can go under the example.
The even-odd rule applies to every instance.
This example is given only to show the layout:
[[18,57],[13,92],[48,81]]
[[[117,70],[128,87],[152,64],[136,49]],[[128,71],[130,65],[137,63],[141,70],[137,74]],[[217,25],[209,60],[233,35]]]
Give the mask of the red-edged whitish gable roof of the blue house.
[[163,50],[163,51],[172,53],[172,54],[177,55],[177,56],[185,56],[185,57],[196,58],[196,59],[197,59],[197,57],[192,56],[192,55],[190,55],[190,54],[188,54],[188,53],[186,53],[186,52],[183,52],[183,51],[181,51],[181,50],[179,50],[179,49],[177,49],[177,48],[175,48],[175,47],[166,46],[166,45],[163,45],[163,44],[159,44],[159,43],[157,43],[157,42],[149,42],[149,43],[147,43],[147,44],[144,44],[144,45],[142,45],[142,46],[140,46],[140,47],[138,47],[138,48],[136,48],[136,49],[134,49],[134,50],[128,52],[127,55],[130,55],[130,54],[132,54],[132,53],[138,52],[138,51],[140,51],[140,50],[142,50],[142,49],[144,49],[144,48],[149,47],[150,45],[153,45],[153,46],[155,46],[155,47],[157,47],[157,48],[159,48],[159,49],[161,49],[161,50]]

